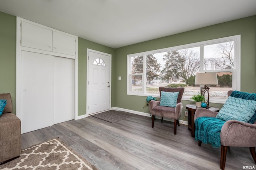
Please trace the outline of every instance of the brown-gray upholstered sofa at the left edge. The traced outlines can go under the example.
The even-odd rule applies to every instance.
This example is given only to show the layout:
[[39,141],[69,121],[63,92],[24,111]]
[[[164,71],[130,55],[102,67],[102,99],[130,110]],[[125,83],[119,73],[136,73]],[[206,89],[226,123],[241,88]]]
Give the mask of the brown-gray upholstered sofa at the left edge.
[[0,94],[0,99],[7,100],[2,115],[0,115],[0,164],[20,156],[21,123],[12,113],[10,93]]

